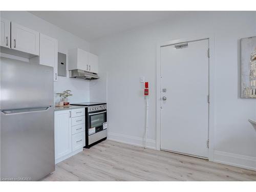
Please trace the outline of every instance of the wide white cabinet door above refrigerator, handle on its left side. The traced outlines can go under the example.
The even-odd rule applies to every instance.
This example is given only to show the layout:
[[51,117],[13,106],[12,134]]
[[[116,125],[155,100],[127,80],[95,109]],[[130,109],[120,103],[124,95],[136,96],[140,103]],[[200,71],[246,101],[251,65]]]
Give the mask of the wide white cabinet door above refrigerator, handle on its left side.
[[39,55],[39,32],[15,23],[11,23],[11,26],[11,48],[33,55]]

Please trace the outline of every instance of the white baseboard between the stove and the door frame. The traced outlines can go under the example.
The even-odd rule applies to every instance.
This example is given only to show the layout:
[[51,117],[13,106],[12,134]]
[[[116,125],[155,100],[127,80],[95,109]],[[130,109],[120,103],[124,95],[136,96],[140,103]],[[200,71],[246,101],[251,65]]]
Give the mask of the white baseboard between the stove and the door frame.
[[[145,140],[141,137],[135,137],[130,135],[123,135],[118,133],[108,133],[108,139],[112,141],[117,141],[125,144],[131,144],[136,146],[144,146]],[[147,139],[147,148],[156,149],[156,140]]]

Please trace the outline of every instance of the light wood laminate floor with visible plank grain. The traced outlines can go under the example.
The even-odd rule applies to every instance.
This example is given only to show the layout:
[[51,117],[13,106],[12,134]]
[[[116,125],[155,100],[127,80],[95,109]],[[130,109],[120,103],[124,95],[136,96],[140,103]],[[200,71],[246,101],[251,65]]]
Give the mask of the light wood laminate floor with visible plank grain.
[[58,163],[43,181],[256,181],[256,172],[105,140]]

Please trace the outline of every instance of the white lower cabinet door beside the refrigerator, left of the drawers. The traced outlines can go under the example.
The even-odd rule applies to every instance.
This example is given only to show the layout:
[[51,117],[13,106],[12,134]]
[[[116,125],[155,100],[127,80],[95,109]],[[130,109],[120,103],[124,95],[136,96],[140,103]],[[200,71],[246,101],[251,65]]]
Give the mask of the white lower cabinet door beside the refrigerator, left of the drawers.
[[56,111],[54,114],[56,160],[72,152],[71,110]]

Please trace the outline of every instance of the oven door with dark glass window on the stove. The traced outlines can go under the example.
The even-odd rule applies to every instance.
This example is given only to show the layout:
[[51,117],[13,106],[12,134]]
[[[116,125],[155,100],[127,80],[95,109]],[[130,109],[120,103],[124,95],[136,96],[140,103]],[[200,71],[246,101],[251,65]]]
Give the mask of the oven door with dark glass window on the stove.
[[[106,123],[106,110],[91,112],[88,114],[88,135],[95,134],[103,130]],[[106,126],[104,126],[105,128]]]

